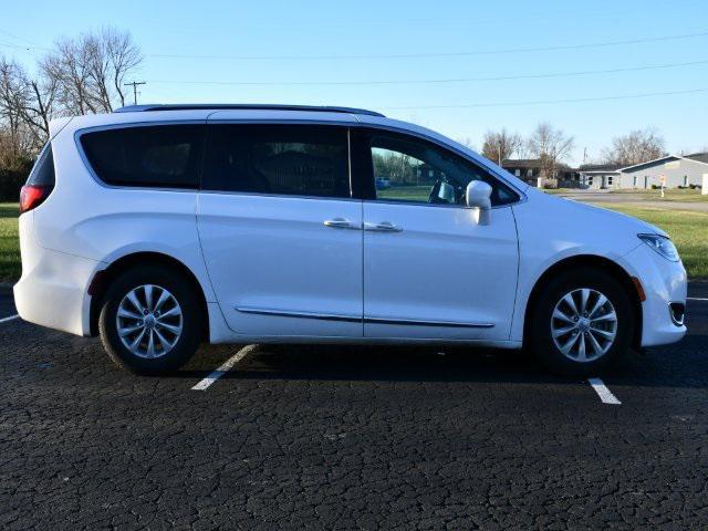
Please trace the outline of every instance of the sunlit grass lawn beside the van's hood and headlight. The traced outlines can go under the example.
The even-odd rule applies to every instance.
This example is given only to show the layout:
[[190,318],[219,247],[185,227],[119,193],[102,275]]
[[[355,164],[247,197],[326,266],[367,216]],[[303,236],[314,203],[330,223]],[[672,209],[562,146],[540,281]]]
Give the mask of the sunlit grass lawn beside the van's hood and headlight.
[[634,216],[664,229],[676,243],[688,278],[708,279],[708,212],[663,210],[616,202],[597,206]]

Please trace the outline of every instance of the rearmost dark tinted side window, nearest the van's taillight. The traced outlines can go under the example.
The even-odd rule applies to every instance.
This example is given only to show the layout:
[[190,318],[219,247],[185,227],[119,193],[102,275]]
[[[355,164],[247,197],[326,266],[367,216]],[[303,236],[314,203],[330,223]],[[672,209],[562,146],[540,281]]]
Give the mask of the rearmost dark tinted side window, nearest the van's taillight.
[[81,136],[88,164],[114,186],[197,188],[202,125],[96,131]]

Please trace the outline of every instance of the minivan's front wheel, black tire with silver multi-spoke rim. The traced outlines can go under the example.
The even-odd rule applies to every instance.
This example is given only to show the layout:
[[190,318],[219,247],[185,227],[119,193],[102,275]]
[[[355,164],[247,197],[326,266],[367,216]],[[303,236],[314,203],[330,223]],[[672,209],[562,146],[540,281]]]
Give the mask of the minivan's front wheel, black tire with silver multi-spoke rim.
[[[595,310],[602,302],[600,295],[607,302]],[[543,287],[531,309],[528,331],[531,348],[553,373],[589,376],[615,363],[629,348],[634,311],[626,290],[614,277],[580,268],[560,273]]]

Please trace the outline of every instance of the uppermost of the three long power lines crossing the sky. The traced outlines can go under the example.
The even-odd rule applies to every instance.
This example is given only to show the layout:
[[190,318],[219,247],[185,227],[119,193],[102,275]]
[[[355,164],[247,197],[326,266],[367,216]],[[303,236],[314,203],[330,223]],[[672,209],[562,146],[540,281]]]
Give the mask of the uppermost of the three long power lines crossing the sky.
[[647,37],[639,39],[627,39],[622,41],[593,42],[581,44],[565,44],[555,46],[537,48],[511,48],[500,50],[477,50],[469,52],[441,52],[441,53],[394,53],[394,54],[371,54],[371,55],[201,55],[201,54],[177,54],[177,53],[147,53],[147,58],[156,59],[201,59],[201,60],[238,60],[238,61],[321,61],[321,60],[356,60],[356,59],[426,59],[426,58],[459,58],[471,55],[497,55],[508,53],[531,53],[531,52],[554,52],[561,50],[582,50],[589,48],[620,46],[625,44],[641,44],[645,42],[664,42],[680,39],[693,39],[706,37],[708,31],[698,33],[684,33],[679,35]]

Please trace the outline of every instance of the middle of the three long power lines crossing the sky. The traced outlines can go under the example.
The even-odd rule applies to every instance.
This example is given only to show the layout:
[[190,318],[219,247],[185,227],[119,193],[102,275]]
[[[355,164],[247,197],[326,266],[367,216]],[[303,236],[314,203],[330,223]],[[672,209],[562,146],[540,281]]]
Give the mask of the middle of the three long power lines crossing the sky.
[[150,83],[181,84],[181,85],[239,85],[239,86],[293,86],[293,85],[404,85],[404,84],[442,84],[442,83],[473,83],[485,81],[537,80],[546,77],[571,77],[577,75],[614,74],[621,72],[641,72],[647,70],[675,69],[708,64],[708,60],[690,61],[686,63],[664,63],[645,66],[628,66],[606,70],[582,70],[575,72],[552,72],[542,74],[496,75],[482,77],[448,77],[437,80],[372,80],[372,81],[188,81],[188,80],[153,80]]

